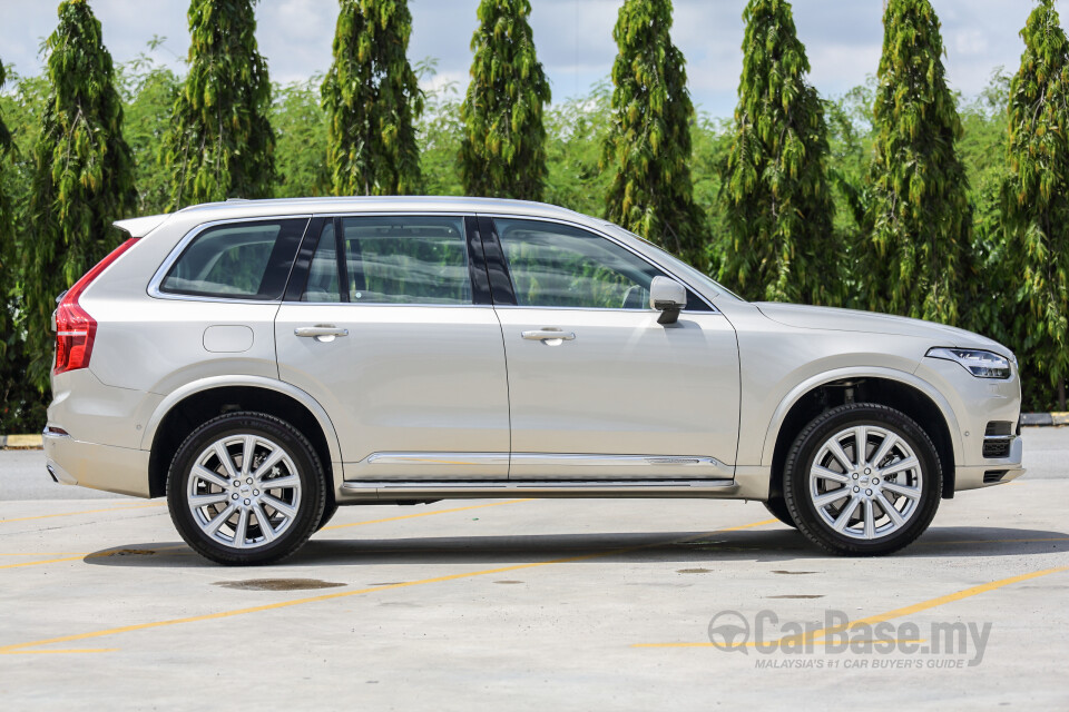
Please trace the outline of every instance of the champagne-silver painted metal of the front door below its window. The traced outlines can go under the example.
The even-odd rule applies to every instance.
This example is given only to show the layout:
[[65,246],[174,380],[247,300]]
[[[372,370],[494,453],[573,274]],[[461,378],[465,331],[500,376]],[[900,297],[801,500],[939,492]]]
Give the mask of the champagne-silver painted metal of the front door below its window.
[[[527,454],[707,456],[730,477],[738,427],[735,332],[715,313],[497,307],[509,364],[510,478],[687,477],[671,462],[600,467]],[[575,338],[530,340],[560,329]],[[519,455],[518,455],[519,454]],[[577,458],[576,458],[577,459]]]

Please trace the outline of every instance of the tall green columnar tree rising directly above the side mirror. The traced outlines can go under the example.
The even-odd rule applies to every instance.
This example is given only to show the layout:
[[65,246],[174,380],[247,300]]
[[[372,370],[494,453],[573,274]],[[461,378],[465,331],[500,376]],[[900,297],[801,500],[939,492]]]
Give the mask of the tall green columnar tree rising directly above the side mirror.
[[606,217],[706,267],[706,236],[690,179],[683,53],[671,43],[670,0],[625,0],[612,30],[612,110],[601,168],[615,174]]

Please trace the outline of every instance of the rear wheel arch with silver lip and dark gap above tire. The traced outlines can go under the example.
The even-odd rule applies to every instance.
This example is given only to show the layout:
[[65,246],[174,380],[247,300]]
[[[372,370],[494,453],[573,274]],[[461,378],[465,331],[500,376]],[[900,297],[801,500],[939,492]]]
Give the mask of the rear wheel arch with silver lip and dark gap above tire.
[[283,418],[301,429],[323,461],[335,491],[342,484],[337,433],[326,411],[304,390],[281,380],[257,376],[216,376],[186,384],[156,407],[145,428],[141,449],[149,451],[149,496],[166,493],[167,471],[182,442],[220,413],[258,411]]

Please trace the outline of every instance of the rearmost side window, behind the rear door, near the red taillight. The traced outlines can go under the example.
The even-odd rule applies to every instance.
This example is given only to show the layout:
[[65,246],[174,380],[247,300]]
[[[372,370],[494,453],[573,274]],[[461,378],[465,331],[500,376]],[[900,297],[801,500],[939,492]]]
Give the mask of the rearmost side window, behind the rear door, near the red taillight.
[[196,297],[279,299],[307,218],[209,227],[178,257],[159,290]]

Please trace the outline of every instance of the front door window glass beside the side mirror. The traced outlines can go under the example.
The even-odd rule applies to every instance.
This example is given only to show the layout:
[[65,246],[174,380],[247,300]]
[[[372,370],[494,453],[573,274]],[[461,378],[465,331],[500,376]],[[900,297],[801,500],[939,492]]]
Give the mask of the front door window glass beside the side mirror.
[[518,306],[648,309],[659,269],[578,228],[496,218]]

